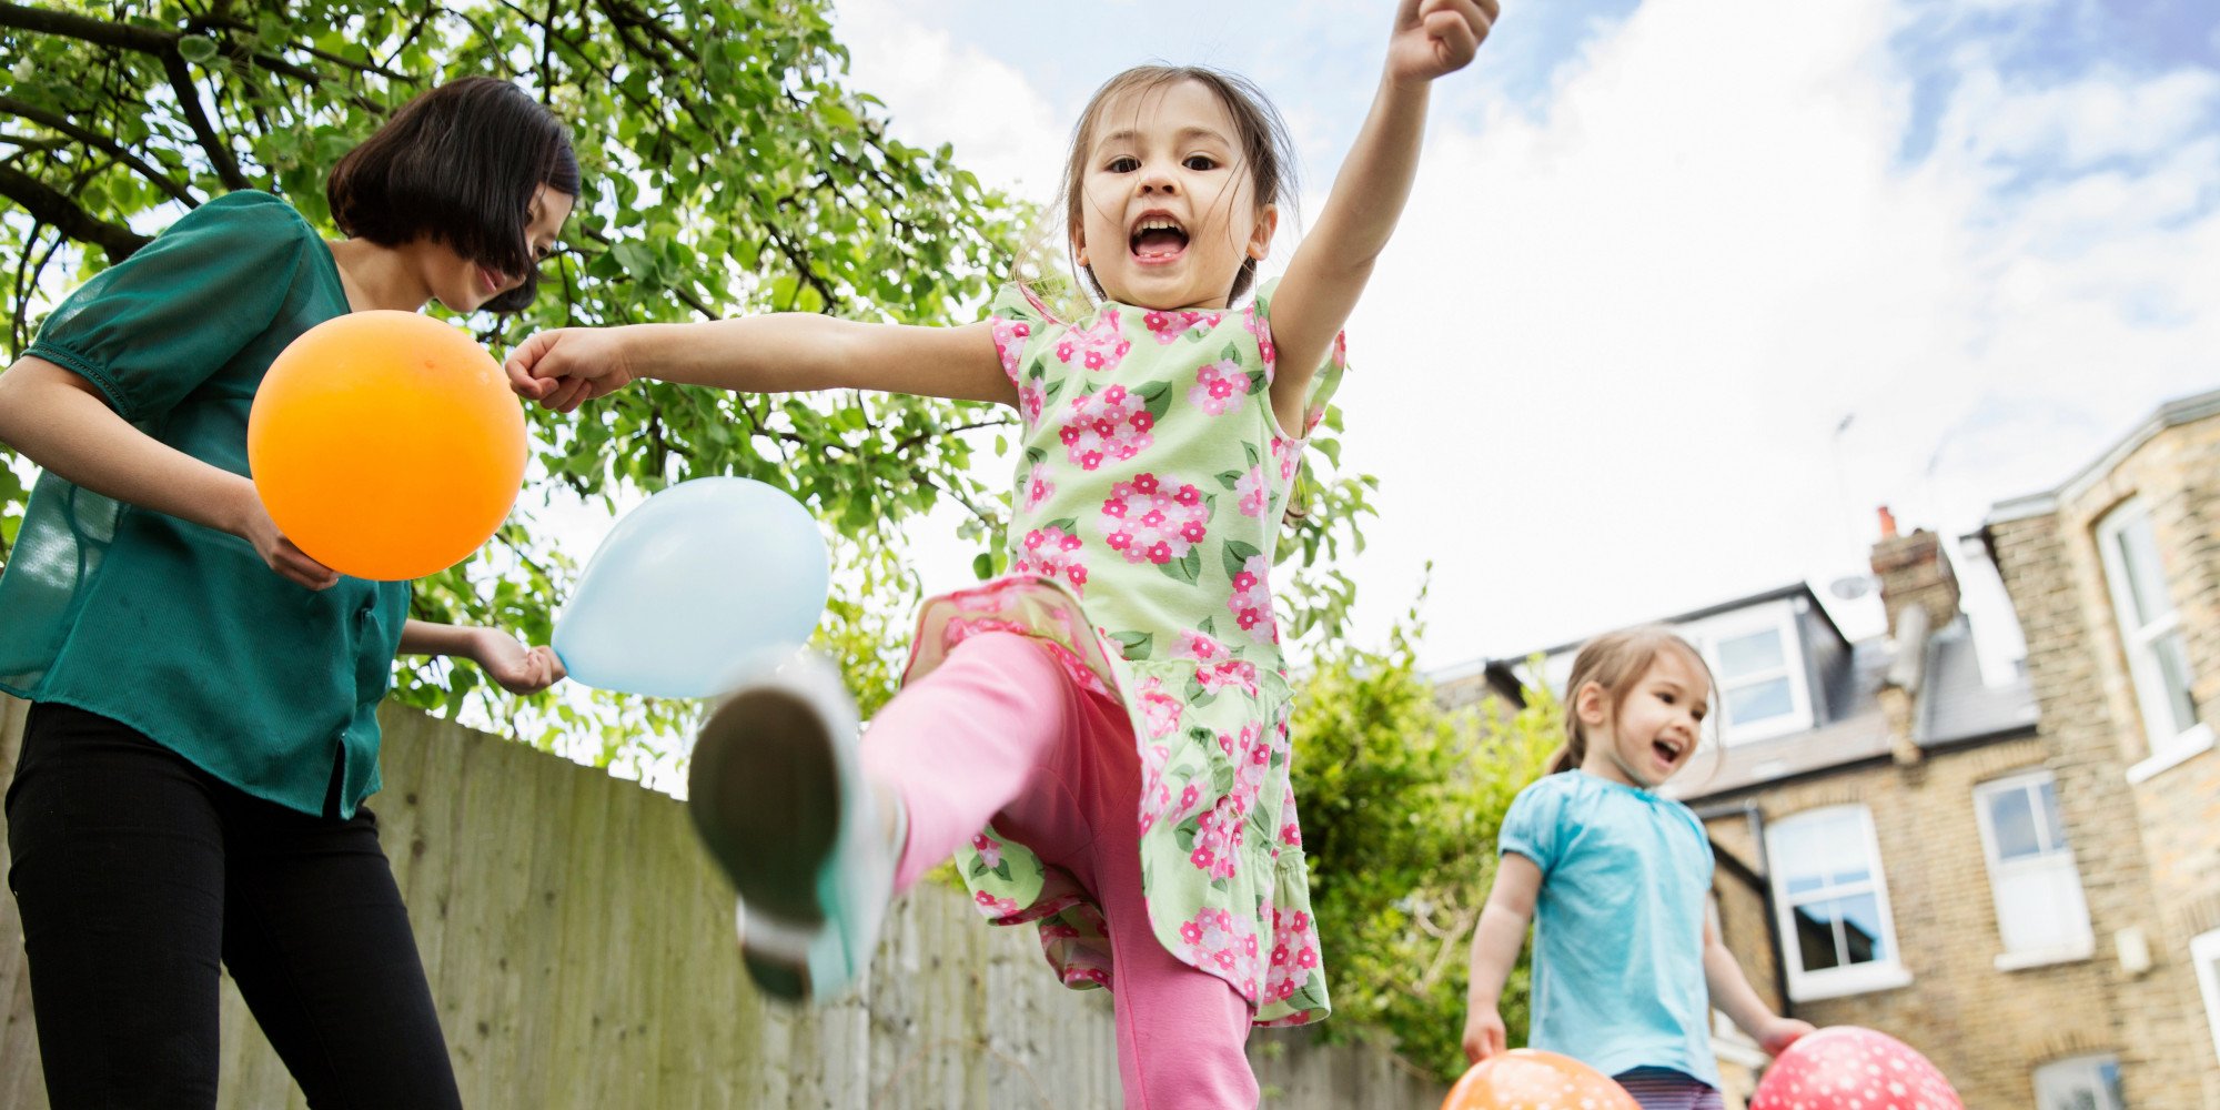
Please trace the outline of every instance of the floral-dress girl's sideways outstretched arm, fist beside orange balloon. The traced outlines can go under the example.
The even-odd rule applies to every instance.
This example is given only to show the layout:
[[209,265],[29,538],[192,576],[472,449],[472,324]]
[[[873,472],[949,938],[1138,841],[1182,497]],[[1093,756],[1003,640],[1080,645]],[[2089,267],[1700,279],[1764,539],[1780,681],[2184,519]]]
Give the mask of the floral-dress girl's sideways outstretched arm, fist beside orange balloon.
[[557,329],[506,362],[517,395],[568,413],[635,377],[739,393],[872,389],[1017,404],[992,324],[864,324],[821,313],[768,313],[702,324]]

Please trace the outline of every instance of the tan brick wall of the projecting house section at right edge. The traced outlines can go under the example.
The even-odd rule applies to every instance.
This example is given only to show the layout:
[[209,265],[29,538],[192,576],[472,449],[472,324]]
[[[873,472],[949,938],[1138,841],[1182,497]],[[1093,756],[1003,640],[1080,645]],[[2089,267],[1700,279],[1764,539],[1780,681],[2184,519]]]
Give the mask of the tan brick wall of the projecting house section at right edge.
[[[2122,1021],[2151,1037],[2149,1048],[2122,1052],[2125,1094],[2138,1108],[2213,1110],[2220,1057],[2189,941],[2220,928],[2220,753],[2193,755],[2142,784],[2127,781],[2127,768],[2151,748],[2096,535],[2129,497],[2151,515],[2180,613],[2191,693],[2200,717],[2213,722],[2220,717],[2220,417],[2158,433],[2098,482],[2071,491],[2056,513],[1998,524],[1991,533],[2027,635],[2029,677],[2067,819],[2136,824],[2136,859],[2107,875],[2113,881],[2105,890],[2118,908],[2118,928],[2140,928],[2153,959],[2120,999]],[[2109,837],[2105,848],[2127,855]],[[2096,879],[2089,864],[2082,868]],[[2093,881],[2089,892],[2096,904]],[[2098,939],[2109,932],[2100,928]]]

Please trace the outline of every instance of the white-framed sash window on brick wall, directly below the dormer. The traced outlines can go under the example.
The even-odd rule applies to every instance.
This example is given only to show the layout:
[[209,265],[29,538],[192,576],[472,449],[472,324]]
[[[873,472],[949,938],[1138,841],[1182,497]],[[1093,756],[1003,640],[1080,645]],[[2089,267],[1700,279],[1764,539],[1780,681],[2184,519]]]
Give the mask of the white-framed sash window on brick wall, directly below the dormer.
[[1789,997],[1832,999],[1905,986],[1889,886],[1865,806],[1800,813],[1765,833]]

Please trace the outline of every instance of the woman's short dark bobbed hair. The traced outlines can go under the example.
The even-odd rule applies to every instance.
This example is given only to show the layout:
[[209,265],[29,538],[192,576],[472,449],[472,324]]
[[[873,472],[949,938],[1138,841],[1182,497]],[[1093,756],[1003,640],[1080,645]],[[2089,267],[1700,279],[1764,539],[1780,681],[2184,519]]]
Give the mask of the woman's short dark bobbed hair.
[[324,195],[349,238],[400,246],[428,235],[480,266],[522,273],[522,286],[484,304],[513,313],[539,293],[524,226],[542,184],[577,195],[571,129],[506,80],[462,78],[402,104],[346,151]]

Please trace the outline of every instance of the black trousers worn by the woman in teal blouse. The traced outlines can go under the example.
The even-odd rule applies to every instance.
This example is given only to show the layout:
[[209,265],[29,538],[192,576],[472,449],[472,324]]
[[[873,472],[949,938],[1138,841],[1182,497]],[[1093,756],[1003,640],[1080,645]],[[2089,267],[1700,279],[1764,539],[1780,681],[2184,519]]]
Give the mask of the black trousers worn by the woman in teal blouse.
[[371,810],[309,817],[33,704],[7,841],[56,1110],[213,1108],[218,961],[309,1106],[462,1106]]

